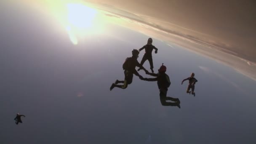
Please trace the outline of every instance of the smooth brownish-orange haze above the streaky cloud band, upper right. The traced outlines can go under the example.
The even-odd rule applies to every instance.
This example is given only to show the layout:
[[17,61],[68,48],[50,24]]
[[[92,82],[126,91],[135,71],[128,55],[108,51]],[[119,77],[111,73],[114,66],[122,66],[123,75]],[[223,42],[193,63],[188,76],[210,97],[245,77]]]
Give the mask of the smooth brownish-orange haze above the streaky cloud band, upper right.
[[254,0],[85,0],[119,9],[166,30],[227,48],[256,62]]

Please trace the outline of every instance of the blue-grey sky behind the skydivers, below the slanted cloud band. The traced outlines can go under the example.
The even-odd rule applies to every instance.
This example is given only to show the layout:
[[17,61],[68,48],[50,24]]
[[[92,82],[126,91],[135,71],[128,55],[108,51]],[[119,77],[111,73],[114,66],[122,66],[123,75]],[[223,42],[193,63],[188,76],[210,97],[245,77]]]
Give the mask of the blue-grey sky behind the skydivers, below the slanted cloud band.
[[[66,29],[69,23],[59,19],[65,16],[37,6],[1,2],[1,144],[256,142],[252,78],[223,61],[189,51],[192,43],[187,39],[153,38],[159,49],[153,53],[154,70],[166,65],[168,96],[179,98],[181,109],[163,107],[157,83],[136,76],[127,89],[109,91],[116,79],[124,78],[124,60],[133,48],[146,44],[151,27],[134,30],[131,26],[138,23],[128,25],[112,17],[103,26],[83,29],[68,21],[73,25]],[[147,61],[144,67],[149,69]],[[198,80],[195,97],[186,93],[187,82],[181,85],[191,72]],[[26,115],[19,125],[13,120],[17,112]]]

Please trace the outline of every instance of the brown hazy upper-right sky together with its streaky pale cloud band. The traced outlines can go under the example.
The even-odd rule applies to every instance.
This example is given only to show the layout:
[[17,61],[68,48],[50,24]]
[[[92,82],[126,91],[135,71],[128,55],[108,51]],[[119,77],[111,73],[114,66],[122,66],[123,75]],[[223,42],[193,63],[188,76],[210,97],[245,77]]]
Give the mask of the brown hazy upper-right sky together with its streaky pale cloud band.
[[107,11],[108,16],[129,21],[130,24],[122,25],[130,29],[140,29],[143,34],[165,42],[184,45],[256,80],[254,1],[89,2],[88,5],[104,10],[103,13]]

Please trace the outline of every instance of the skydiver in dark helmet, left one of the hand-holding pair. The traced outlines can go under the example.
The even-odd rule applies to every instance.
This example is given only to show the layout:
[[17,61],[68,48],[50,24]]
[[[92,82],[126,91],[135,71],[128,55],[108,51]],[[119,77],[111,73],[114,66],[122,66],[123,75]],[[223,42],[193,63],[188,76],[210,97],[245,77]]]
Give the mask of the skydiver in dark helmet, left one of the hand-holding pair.
[[[125,62],[123,63],[123,69],[124,69],[124,74],[125,74],[125,80],[116,80],[115,83],[112,83],[110,87],[110,91],[117,87],[117,88],[122,88],[125,89],[129,84],[132,83],[133,81],[133,74],[138,76],[140,79],[143,78],[139,73],[136,71],[135,67],[140,67],[143,69],[145,72],[148,72],[147,69],[141,66],[139,62],[137,61],[139,57],[139,51],[136,49],[133,49],[132,51],[132,57],[128,57],[125,59]],[[123,83],[123,85],[117,85],[118,83]]]

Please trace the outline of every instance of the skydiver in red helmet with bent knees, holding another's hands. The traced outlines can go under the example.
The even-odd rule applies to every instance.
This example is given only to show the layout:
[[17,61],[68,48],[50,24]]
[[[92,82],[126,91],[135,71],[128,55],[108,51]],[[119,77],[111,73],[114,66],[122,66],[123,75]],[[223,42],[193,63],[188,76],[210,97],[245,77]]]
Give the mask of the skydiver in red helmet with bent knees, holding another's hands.
[[[157,81],[157,86],[160,91],[160,101],[163,106],[177,106],[180,107],[180,101],[178,98],[172,98],[167,96],[167,91],[169,86],[171,85],[171,81],[169,76],[165,73],[166,67],[162,64],[160,69],[158,69],[158,73],[149,73],[148,75],[155,76],[155,78],[142,78],[141,80],[146,81]],[[175,101],[175,102],[167,102],[167,100]]]

